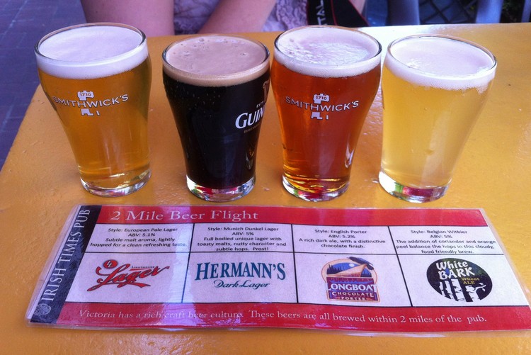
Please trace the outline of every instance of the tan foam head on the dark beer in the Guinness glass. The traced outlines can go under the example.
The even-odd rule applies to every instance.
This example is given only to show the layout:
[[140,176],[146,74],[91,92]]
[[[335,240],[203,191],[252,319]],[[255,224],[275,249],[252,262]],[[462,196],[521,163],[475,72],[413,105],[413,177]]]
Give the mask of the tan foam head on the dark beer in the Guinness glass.
[[164,71],[198,86],[231,86],[260,77],[269,68],[261,43],[236,35],[196,35],[166,48]]

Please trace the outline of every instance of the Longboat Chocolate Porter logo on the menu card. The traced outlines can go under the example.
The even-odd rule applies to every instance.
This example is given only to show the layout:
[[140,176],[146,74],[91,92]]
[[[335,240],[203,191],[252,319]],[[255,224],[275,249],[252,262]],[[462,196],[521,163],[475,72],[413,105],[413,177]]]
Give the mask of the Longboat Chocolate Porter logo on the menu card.
[[377,276],[372,264],[349,257],[326,264],[321,271],[329,300],[379,302]]

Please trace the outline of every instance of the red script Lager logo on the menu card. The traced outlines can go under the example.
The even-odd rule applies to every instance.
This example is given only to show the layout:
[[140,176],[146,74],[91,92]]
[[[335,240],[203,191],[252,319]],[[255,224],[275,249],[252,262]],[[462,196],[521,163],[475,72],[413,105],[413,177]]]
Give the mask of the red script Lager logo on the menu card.
[[137,286],[139,288],[151,286],[149,283],[145,283],[144,279],[157,276],[169,268],[169,266],[159,268],[159,266],[131,266],[131,264],[118,266],[118,261],[110,259],[103,263],[103,267],[98,266],[96,268],[96,274],[104,277],[98,278],[96,285],[86,291],[94,291],[101,286],[117,286],[118,288],[124,286]]

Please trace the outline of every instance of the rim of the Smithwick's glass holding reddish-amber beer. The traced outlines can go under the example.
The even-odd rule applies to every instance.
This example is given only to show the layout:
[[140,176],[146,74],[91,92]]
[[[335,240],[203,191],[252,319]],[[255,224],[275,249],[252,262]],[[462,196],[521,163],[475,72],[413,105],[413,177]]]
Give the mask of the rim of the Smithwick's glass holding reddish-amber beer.
[[[319,28],[330,28],[333,30],[346,30],[351,33],[355,33],[356,35],[360,35],[363,38],[367,38],[368,40],[372,41],[372,43],[377,45],[377,50],[375,51],[373,55],[371,55],[368,58],[365,58],[364,60],[360,60],[359,62],[353,62],[350,64],[341,64],[341,65],[331,65],[331,64],[319,64],[319,63],[312,63],[312,62],[299,60],[295,57],[292,57],[288,53],[282,51],[280,47],[278,46],[278,42],[280,38],[282,38],[283,36],[287,34],[290,34],[290,33],[293,33],[299,30],[308,30],[308,29],[313,30],[313,29],[319,29]],[[379,40],[374,38],[372,35],[362,32],[356,28],[348,28],[348,27],[343,27],[343,26],[330,26],[330,25],[300,26],[297,28],[291,28],[290,30],[285,30],[284,32],[280,33],[280,35],[278,35],[277,38],[275,38],[274,45],[275,45],[275,52],[280,52],[281,55],[284,55],[285,57],[287,57],[288,60],[292,63],[299,63],[301,65],[304,65],[304,67],[310,68],[312,72],[315,70],[317,73],[317,76],[319,76],[320,72],[326,72],[326,74],[331,74],[331,73],[336,73],[336,72],[340,73],[348,69],[357,69],[358,67],[365,67],[365,66],[369,67],[368,62],[372,62],[372,61],[375,62],[375,65],[374,66],[371,65],[370,69],[373,69],[377,65],[381,64],[380,58],[382,55],[382,44],[379,43]],[[303,73],[303,74],[306,74],[306,73]],[[326,76],[326,75],[323,75],[323,76]],[[348,76],[348,75],[341,75],[341,77],[345,77],[345,76]]]

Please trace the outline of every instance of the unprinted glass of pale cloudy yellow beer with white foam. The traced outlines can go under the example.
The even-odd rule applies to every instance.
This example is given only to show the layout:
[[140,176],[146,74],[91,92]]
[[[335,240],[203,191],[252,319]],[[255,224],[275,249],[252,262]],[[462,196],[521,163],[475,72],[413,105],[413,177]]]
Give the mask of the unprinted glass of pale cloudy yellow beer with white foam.
[[445,194],[495,71],[491,52],[457,38],[414,35],[389,45],[379,173],[385,191],[410,202]]

